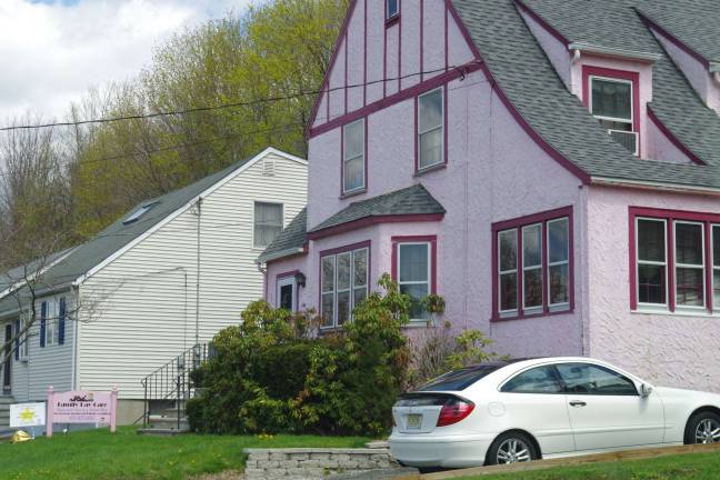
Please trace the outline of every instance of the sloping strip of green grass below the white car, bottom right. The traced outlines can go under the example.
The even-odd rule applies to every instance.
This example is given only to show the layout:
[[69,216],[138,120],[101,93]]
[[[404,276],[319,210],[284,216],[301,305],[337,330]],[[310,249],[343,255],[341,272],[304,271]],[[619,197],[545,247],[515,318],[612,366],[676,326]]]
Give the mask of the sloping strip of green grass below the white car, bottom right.
[[720,453],[687,453],[649,460],[623,460],[561,467],[524,473],[464,477],[464,480],[717,480]]

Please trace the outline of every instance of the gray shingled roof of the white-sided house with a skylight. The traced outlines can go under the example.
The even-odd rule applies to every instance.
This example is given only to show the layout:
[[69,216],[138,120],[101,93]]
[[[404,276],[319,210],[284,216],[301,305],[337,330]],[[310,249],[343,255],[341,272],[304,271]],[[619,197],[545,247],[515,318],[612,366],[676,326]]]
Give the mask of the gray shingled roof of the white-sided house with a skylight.
[[[128,243],[157,226],[168,216],[246,164],[252,158],[237,162],[224,170],[162,197],[138,203],[138,206],[118,219],[110,227],[102,230],[86,243],[72,249],[70,254],[48,269],[41,276],[41,280],[34,286],[36,290],[48,292],[69,288],[74,280],[89,272],[103,260],[108,259]],[[153,203],[153,207],[146,214],[132,223],[123,224],[123,221],[128,217],[130,217],[140,207],[147,206],[148,203]],[[23,288],[18,290],[17,293],[6,297],[0,300],[0,312],[17,309],[17,298],[26,298],[28,296],[28,289]]]

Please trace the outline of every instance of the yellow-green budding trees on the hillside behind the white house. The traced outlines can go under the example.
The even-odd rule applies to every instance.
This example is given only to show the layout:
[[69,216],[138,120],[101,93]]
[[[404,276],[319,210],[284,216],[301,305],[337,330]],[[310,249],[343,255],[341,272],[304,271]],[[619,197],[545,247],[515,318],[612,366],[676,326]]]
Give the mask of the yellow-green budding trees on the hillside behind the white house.
[[[0,242],[62,231],[67,247],[269,144],[304,156],[314,96],[296,93],[320,87],[347,7],[276,0],[178,32],[134,79],[89,91],[67,120],[180,113],[0,132]],[[242,106],[203,110],[228,103]]]

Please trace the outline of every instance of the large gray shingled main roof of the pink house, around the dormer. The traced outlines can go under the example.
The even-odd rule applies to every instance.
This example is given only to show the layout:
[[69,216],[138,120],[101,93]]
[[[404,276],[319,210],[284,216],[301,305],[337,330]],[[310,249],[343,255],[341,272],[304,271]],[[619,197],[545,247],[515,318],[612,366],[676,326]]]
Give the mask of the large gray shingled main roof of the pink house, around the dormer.
[[[638,19],[634,7],[644,2],[529,0],[526,4],[571,42],[660,53],[651,108],[708,167],[639,160],[612,141],[562,83],[512,0],[453,3],[518,113],[579,169],[596,178],[720,188],[720,117],[702,103]],[[607,16],[611,21],[601,20]]]

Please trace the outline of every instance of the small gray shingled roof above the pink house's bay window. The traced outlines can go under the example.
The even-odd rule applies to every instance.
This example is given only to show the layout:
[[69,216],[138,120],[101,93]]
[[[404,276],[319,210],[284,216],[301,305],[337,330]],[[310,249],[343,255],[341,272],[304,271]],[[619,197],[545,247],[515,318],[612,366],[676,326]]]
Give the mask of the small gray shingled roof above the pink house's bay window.
[[356,220],[382,216],[444,213],[446,209],[426,188],[418,183],[390,193],[350,203],[310,232],[337,227]]

